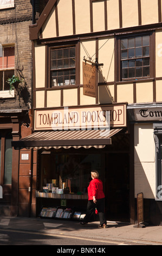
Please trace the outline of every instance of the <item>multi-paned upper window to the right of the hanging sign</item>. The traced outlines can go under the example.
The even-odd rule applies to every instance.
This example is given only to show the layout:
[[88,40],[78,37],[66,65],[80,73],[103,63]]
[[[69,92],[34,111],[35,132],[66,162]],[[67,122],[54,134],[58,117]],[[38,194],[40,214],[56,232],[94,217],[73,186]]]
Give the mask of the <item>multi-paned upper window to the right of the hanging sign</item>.
[[121,38],[121,81],[150,77],[150,35]]

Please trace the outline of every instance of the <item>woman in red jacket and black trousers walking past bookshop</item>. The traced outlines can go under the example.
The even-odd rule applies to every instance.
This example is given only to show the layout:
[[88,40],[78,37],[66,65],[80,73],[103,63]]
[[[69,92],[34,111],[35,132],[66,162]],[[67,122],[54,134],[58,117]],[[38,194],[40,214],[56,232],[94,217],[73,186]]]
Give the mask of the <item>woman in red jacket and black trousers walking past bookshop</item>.
[[99,212],[100,225],[99,228],[106,228],[106,217],[104,214],[104,198],[105,194],[103,193],[103,184],[99,179],[99,173],[97,170],[91,172],[92,180],[88,186],[88,204],[87,212],[85,218],[81,221],[81,224],[86,224],[89,222],[90,217],[92,216],[95,208]]

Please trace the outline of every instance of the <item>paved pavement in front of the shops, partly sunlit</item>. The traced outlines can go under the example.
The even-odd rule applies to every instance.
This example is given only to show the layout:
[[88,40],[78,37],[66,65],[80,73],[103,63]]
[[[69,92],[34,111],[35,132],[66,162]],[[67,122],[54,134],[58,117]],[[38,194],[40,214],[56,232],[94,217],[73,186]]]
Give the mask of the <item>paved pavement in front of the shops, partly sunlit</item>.
[[15,230],[25,233],[35,232],[50,236],[71,237],[94,241],[111,241],[120,244],[162,245],[162,226],[135,225],[122,222],[107,221],[106,228],[98,228],[99,222],[81,225],[78,221],[49,219],[40,217],[7,217],[0,216],[0,231]]

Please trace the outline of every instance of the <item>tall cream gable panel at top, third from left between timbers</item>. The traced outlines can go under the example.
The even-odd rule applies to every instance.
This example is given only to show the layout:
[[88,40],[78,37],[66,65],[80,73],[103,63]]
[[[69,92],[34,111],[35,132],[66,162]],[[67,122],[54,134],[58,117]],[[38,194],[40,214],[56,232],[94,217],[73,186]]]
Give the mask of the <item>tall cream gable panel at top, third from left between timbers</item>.
[[87,0],[75,0],[76,34],[90,32],[90,5]]

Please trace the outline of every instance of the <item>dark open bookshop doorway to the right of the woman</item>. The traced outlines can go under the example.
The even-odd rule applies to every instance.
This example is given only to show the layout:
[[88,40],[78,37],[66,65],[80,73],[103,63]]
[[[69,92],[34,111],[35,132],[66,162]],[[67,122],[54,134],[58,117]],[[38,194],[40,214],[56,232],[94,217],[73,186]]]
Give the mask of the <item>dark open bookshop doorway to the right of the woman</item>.
[[129,155],[105,155],[105,211],[109,221],[129,222]]

